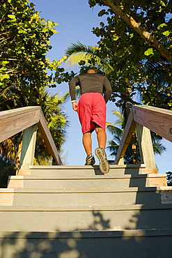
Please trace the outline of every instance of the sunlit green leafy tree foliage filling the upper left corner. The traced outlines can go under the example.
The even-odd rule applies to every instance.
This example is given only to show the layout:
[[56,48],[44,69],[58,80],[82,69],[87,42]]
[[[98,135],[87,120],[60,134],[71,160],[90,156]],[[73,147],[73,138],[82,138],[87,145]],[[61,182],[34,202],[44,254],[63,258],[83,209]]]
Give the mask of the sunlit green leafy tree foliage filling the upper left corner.
[[49,39],[58,32],[54,29],[58,24],[41,19],[33,3],[2,0],[0,24],[0,96],[11,86],[19,86],[24,88],[24,95],[31,96],[29,104],[33,105],[38,97],[33,91],[45,86],[55,87],[57,76],[58,81],[63,81],[64,75],[65,79],[71,78],[60,67],[65,56],[52,62],[46,58],[52,49]]

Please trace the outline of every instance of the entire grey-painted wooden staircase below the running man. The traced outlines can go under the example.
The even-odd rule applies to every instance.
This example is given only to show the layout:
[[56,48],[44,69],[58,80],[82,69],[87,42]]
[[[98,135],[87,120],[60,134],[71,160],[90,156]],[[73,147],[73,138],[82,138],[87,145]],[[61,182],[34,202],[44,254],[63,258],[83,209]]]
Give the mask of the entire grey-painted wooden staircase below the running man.
[[0,257],[171,257],[171,211],[145,165],[31,166],[0,189]]

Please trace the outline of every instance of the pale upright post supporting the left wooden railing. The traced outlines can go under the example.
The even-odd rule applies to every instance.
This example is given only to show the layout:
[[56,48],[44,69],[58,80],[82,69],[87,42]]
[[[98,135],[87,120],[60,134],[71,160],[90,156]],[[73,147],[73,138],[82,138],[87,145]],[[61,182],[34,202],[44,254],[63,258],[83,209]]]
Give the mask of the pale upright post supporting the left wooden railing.
[[24,130],[19,169],[29,169],[29,166],[33,165],[33,158],[36,149],[36,132],[37,123]]

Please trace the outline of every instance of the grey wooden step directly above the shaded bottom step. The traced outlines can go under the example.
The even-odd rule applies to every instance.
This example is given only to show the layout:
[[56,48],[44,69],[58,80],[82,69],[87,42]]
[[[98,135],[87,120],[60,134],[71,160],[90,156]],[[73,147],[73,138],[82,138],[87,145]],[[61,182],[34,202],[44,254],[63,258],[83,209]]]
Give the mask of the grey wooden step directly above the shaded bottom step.
[[172,228],[172,204],[0,206],[1,231],[47,232]]

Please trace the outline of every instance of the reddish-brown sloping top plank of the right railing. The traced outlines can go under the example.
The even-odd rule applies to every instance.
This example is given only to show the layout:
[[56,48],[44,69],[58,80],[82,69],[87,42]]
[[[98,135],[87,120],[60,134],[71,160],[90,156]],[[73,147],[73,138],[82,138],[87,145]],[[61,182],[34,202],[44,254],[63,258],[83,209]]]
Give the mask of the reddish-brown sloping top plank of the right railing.
[[157,107],[133,106],[136,123],[172,142],[172,111]]

